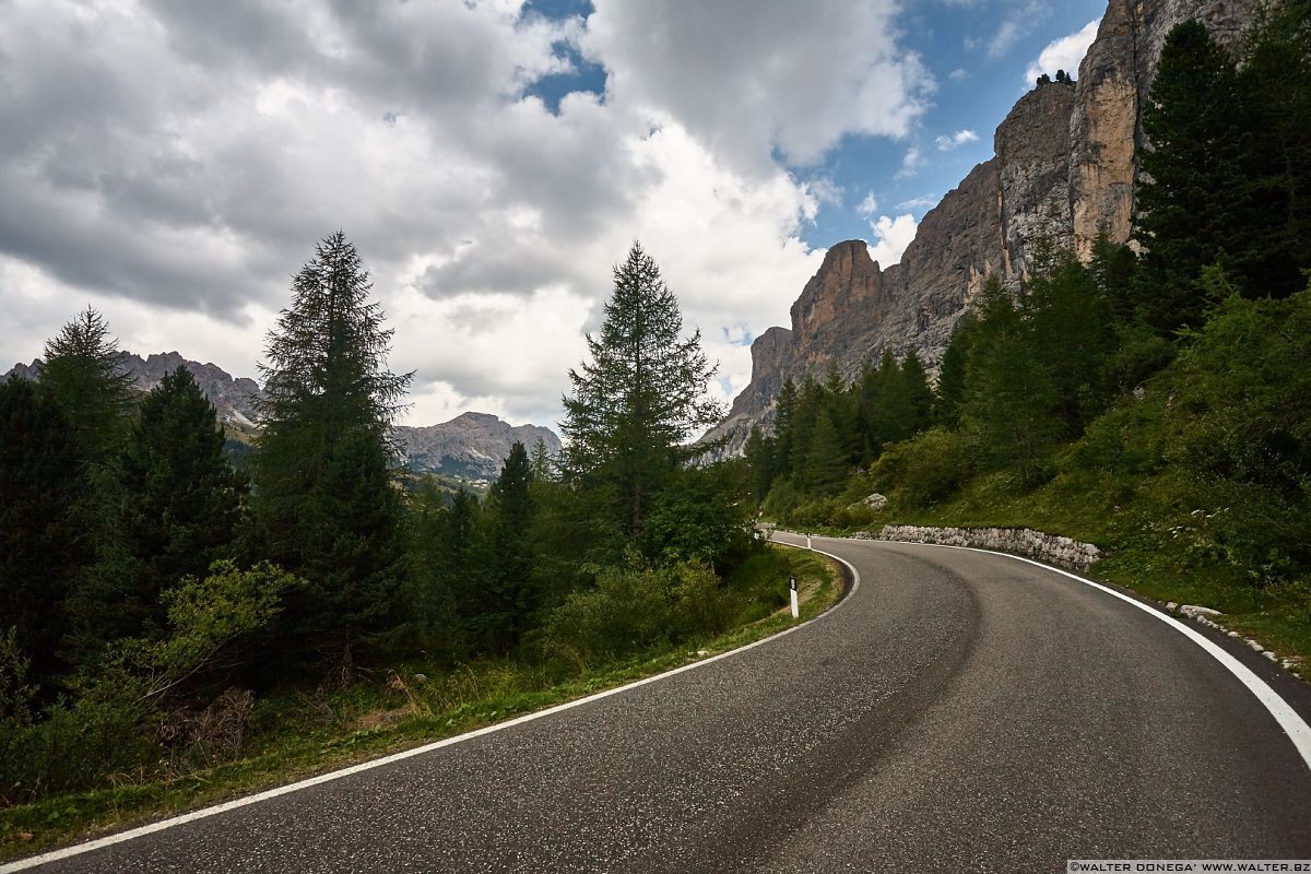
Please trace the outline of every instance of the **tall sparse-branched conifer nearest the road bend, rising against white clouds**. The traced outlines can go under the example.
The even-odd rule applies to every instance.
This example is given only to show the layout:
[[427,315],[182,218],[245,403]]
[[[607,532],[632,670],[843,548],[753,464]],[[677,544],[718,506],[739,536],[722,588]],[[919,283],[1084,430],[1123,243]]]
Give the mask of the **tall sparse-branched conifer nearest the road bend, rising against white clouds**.
[[591,360],[569,371],[564,466],[608,494],[614,522],[636,540],[653,498],[691,455],[682,444],[721,415],[705,394],[716,368],[699,330],[682,337],[678,300],[637,242],[615,267],[604,312],[599,335],[587,335]]

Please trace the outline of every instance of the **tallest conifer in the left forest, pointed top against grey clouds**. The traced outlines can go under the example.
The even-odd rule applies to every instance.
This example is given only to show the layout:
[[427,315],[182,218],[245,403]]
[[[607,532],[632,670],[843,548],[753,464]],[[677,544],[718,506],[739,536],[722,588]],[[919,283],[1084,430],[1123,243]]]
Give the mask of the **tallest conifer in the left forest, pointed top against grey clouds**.
[[323,240],[261,366],[253,552],[307,580],[286,611],[290,630],[342,676],[393,624],[402,579],[388,428],[412,373],[387,370],[392,332],[371,288],[346,236]]

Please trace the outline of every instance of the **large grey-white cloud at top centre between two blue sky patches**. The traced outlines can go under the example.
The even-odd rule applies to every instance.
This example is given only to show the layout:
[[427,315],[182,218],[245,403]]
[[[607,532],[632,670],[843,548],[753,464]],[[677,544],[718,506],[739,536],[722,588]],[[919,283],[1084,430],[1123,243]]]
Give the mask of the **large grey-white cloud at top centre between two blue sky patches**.
[[607,93],[676,117],[733,164],[814,164],[846,134],[905,136],[933,81],[897,42],[898,3],[597,0],[581,47]]

